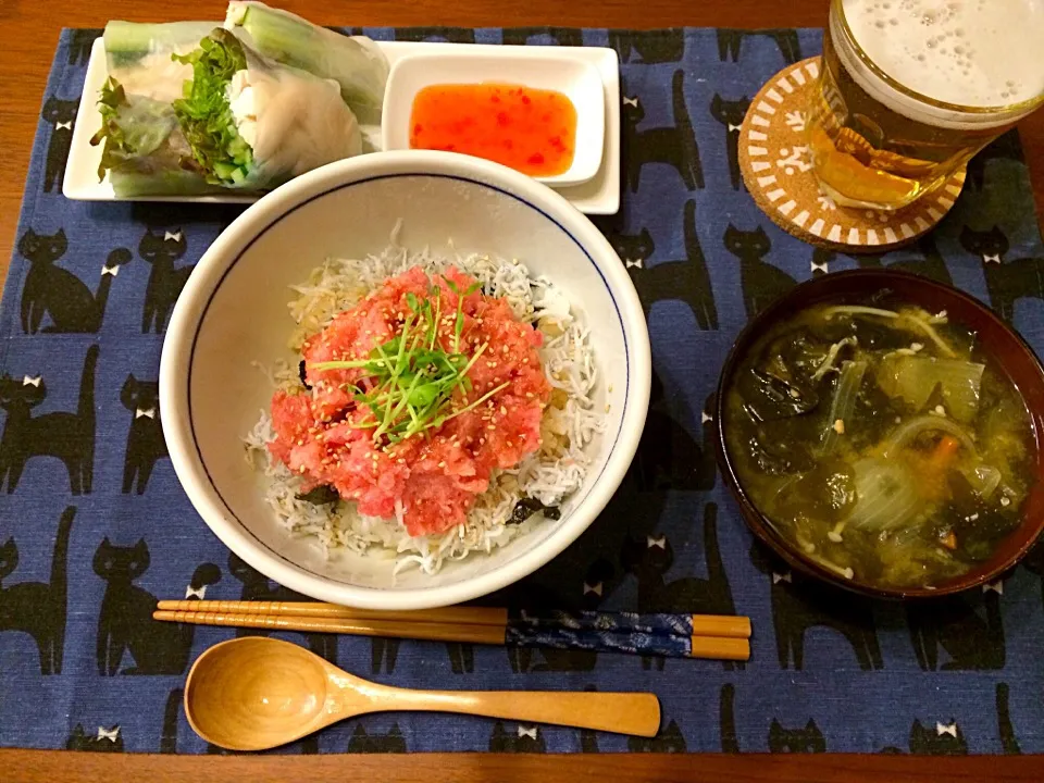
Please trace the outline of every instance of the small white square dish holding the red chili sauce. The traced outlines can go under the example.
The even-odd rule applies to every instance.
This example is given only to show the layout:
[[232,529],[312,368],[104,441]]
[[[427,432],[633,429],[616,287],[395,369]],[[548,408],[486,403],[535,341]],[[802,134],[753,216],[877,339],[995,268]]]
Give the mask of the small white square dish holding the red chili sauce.
[[383,148],[410,149],[411,116],[418,94],[433,85],[478,85],[499,83],[555,90],[576,109],[573,160],[569,170],[555,176],[534,176],[545,185],[581,185],[601,169],[606,138],[606,98],[601,74],[592,63],[558,47],[495,47],[492,52],[458,46],[447,53],[417,53],[400,58],[391,66],[384,94]]

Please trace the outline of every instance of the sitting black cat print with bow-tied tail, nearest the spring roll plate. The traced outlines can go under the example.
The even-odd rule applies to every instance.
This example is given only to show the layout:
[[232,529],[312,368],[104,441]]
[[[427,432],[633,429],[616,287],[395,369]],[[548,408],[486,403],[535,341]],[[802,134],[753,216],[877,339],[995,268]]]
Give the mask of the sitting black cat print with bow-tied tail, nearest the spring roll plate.
[[[29,262],[29,273],[22,288],[22,331],[97,333],[105,315],[109,290],[120,268],[133,260],[130,251],[119,248],[109,253],[101,266],[97,293],[75,274],[54,265],[67,249],[65,232],[40,235],[32,228],[18,240],[18,252]],[[41,328],[44,316],[50,323]]]

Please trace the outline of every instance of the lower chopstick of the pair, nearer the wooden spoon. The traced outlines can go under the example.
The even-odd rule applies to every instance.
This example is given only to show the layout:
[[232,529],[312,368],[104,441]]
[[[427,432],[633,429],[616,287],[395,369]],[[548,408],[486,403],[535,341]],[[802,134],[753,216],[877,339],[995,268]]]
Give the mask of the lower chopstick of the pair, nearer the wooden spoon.
[[[163,601],[162,605],[178,604]],[[399,619],[338,618],[303,614],[262,614],[222,611],[198,611],[202,605],[220,601],[185,601],[190,610],[160,609],[156,620],[184,622],[196,625],[223,625],[269,629],[273,631],[302,631],[306,633],[339,633],[357,636],[414,638],[433,642],[457,642],[513,647],[552,647],[559,649],[588,649],[623,651],[651,656],[682,658],[713,658],[747,660],[750,643],[746,638],[646,633],[629,630],[527,625],[508,622],[501,625],[461,622],[419,622]],[[235,601],[229,601],[234,604]],[[465,607],[458,607],[465,609]],[[352,610],[356,611],[356,610]],[[417,614],[417,612],[410,612]],[[633,616],[643,617],[643,616]]]

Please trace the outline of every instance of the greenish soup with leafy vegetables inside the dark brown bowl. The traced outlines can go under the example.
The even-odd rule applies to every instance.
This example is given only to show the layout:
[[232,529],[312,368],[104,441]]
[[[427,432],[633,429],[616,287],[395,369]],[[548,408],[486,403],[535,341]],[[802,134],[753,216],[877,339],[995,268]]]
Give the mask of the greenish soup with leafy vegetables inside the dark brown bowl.
[[797,312],[726,394],[739,483],[780,535],[847,579],[931,587],[970,571],[1019,526],[1036,457],[989,349],[902,301]]

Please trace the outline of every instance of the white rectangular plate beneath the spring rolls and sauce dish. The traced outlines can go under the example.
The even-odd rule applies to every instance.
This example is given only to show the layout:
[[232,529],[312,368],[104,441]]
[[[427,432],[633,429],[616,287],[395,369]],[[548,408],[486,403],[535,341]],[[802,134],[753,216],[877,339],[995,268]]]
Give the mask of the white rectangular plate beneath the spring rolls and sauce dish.
[[[493,44],[435,44],[409,41],[380,41],[378,46],[390,65],[408,54],[439,52],[446,47],[467,47],[476,53],[485,50],[501,50]],[[573,206],[586,214],[614,214],[620,209],[620,63],[614,49],[601,47],[555,47],[560,57],[573,57],[598,69],[605,86],[605,144],[601,167],[587,182],[556,187]],[[101,126],[97,97],[108,78],[104,42],[95,41],[84,82],[84,95],[76,113],[73,144],[65,165],[62,192],[66,198],[82,201],[197,201],[200,203],[251,203],[256,196],[154,196],[136,199],[119,199],[112,191],[108,177],[98,182],[98,164],[101,162],[101,146],[91,147],[90,137]]]

